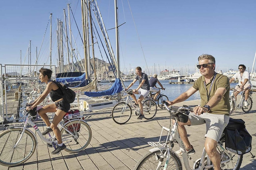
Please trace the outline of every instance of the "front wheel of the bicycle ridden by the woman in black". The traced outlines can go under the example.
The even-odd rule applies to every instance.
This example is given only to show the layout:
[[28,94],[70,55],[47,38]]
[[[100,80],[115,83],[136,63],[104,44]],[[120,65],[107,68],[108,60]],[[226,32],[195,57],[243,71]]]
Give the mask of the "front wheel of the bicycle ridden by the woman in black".
[[[22,138],[21,128],[9,129],[0,134],[0,164],[16,166],[26,162],[35,152],[36,139],[34,135],[25,130]],[[16,142],[19,143],[16,145]],[[16,145],[16,146],[15,146]]]

